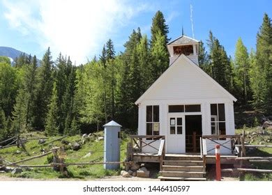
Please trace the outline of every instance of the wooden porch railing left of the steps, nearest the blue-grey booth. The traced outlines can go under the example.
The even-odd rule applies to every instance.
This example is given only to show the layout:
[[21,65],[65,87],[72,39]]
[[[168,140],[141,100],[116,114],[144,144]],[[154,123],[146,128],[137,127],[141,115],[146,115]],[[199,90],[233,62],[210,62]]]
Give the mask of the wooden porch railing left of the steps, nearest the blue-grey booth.
[[[152,143],[159,141],[158,148],[152,146]],[[153,153],[145,153],[143,148],[152,148]],[[144,153],[145,156],[158,157],[160,161],[160,169],[165,159],[165,136],[164,135],[130,135],[130,143],[128,144],[127,161],[133,161],[133,155]]]

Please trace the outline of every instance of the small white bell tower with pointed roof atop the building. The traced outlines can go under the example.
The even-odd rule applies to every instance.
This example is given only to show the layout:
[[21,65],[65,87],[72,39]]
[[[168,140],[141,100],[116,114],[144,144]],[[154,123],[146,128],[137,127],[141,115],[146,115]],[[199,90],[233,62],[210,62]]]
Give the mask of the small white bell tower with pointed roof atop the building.
[[188,36],[181,36],[167,43],[171,65],[181,54],[186,55],[192,62],[198,65],[199,41]]

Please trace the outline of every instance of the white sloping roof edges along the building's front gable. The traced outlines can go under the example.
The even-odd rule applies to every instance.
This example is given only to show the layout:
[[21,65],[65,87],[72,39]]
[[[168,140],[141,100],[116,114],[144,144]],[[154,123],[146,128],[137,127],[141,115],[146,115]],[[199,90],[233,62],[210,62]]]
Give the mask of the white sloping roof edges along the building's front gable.
[[151,93],[151,91],[153,91],[153,89],[156,88],[156,86],[158,86],[159,84],[162,84],[163,79],[167,77],[167,75],[169,75],[171,72],[173,73],[173,71],[175,71],[174,68],[176,65],[178,65],[181,59],[184,59],[186,62],[188,62],[186,63],[188,64],[187,67],[190,67],[192,71],[196,71],[198,72],[198,75],[202,75],[203,78],[212,85],[211,88],[216,88],[216,90],[220,91],[222,94],[226,95],[232,101],[236,102],[236,98],[234,98],[232,94],[230,94],[227,90],[225,90],[225,88],[220,86],[220,84],[218,84],[214,79],[212,79],[209,75],[207,75],[206,72],[204,72],[201,68],[199,68],[198,65],[193,63],[190,59],[188,59],[187,56],[185,56],[184,54],[181,54],[181,56],[179,56],[179,58],[176,61],[174,61],[174,63],[171,66],[169,66],[169,68],[167,68],[165,72],[163,72],[163,75],[160,75],[160,77],[144,92],[144,94],[142,94],[142,96],[135,102],[135,104],[139,104],[139,102],[142,102],[142,100],[148,97],[149,93]]

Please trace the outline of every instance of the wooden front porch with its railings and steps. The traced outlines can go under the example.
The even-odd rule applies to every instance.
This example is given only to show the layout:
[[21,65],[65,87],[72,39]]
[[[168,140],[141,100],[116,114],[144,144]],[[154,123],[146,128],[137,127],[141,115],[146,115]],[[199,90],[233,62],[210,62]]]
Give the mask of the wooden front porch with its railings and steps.
[[[135,163],[159,163],[160,180],[206,180],[206,164],[216,163],[216,155],[209,153],[213,149],[207,150],[206,140],[229,151],[221,155],[221,164],[234,164],[236,157],[239,157],[239,151],[235,147],[239,136],[205,136],[205,139],[200,138],[200,153],[183,154],[165,153],[165,136],[133,135],[130,138],[126,160]],[[219,141],[222,139],[223,141]],[[153,144],[155,142],[159,144]],[[153,152],[145,152],[149,151],[146,148],[151,148]]]

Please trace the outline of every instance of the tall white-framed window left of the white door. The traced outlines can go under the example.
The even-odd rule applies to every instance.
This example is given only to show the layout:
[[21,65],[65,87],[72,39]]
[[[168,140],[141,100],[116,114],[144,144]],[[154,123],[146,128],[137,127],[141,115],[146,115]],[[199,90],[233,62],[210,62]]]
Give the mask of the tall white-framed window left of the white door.
[[160,134],[160,107],[146,106],[146,135]]

